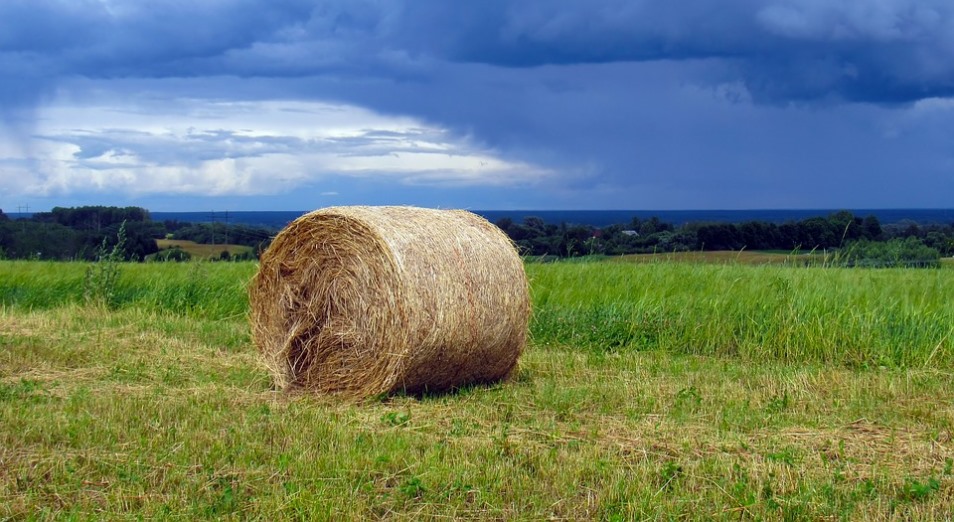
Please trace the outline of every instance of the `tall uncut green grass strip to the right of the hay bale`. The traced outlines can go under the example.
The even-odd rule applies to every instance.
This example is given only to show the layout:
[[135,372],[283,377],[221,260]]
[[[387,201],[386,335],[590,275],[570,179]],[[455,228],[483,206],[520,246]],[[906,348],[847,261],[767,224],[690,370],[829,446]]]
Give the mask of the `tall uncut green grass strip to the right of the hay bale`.
[[751,360],[954,365],[954,273],[530,264],[537,344]]

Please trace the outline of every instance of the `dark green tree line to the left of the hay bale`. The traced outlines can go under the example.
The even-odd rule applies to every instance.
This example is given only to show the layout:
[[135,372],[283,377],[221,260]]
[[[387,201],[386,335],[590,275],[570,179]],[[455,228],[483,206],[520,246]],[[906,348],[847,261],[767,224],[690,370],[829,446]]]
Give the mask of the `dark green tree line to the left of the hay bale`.
[[16,220],[0,210],[0,258],[94,260],[116,245],[120,227],[126,261],[169,259],[168,255],[157,256],[157,239],[244,245],[253,247],[257,254],[275,235],[274,230],[265,227],[153,221],[149,211],[140,207],[55,207]]

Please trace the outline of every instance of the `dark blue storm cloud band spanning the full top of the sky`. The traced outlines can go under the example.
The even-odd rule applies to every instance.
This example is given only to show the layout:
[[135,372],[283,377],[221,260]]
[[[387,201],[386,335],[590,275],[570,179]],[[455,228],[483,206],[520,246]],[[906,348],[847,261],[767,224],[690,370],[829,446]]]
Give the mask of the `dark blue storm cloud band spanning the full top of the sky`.
[[[384,2],[13,0],[5,84],[82,76],[427,78],[503,67],[716,59],[759,99],[898,102],[954,93],[948,0]],[[32,79],[32,80],[31,80]],[[28,92],[23,92],[24,90]],[[19,94],[18,94],[19,92]],[[36,88],[5,87],[29,101]]]

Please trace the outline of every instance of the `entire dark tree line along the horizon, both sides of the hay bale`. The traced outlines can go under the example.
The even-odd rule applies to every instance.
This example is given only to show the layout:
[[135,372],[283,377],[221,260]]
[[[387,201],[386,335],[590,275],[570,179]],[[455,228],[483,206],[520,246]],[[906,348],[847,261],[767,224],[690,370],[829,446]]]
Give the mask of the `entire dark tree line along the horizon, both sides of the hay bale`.
[[[496,225],[527,256],[835,250],[844,264],[851,266],[936,266],[941,256],[954,256],[954,223],[882,225],[876,216],[862,218],[848,211],[783,224],[748,221],[676,226],[657,217],[634,217],[628,223],[598,228],[528,217],[520,223],[503,218]],[[17,220],[0,210],[0,258],[93,260],[116,244],[120,226],[125,227],[123,257],[129,261],[181,257],[169,252],[157,255],[157,239],[245,245],[257,254],[277,232],[241,224],[153,221],[149,211],[139,207],[56,207]]]

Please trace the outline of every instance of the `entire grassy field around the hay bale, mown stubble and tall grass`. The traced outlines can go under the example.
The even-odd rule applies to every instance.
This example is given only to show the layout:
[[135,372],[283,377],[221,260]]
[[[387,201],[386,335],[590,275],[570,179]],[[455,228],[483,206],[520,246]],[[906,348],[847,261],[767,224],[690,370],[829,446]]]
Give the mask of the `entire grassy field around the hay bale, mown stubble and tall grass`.
[[255,264],[88,266],[0,262],[0,519],[954,513],[950,268],[530,263],[510,382],[348,403],[272,389]]

